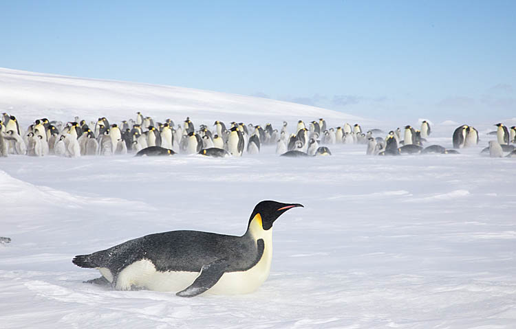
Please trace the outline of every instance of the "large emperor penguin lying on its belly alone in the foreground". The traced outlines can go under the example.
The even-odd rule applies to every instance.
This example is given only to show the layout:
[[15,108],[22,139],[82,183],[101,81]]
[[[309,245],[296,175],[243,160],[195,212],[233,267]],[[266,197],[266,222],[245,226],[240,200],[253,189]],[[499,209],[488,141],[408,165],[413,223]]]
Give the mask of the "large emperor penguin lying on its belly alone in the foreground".
[[243,236],[202,231],[169,231],[129,240],[103,251],[76,256],[77,266],[98,269],[117,290],[142,287],[179,291],[193,297],[251,293],[268,277],[272,259],[272,224],[299,203],[261,201]]

